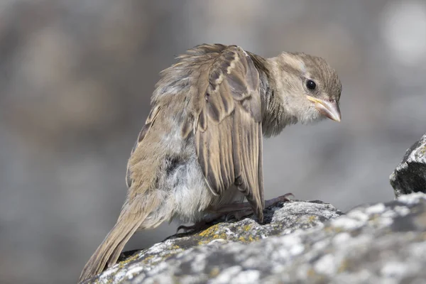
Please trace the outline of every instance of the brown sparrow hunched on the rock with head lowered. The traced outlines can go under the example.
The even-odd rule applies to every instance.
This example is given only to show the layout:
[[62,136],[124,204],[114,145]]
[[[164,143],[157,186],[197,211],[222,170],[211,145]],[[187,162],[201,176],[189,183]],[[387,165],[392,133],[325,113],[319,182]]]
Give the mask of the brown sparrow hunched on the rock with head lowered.
[[178,56],[155,84],[116,224],[79,282],[113,266],[136,231],[163,222],[198,224],[241,209],[263,222],[263,137],[297,122],[341,121],[341,92],[326,60],[305,53],[263,58],[202,44]]

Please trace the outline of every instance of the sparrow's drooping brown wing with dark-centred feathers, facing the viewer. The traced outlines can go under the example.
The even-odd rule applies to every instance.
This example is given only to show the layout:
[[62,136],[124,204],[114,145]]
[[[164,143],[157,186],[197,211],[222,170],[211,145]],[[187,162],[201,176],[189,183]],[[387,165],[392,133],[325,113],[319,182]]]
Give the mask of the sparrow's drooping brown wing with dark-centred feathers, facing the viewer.
[[215,195],[236,185],[263,220],[258,70],[244,50],[228,46],[198,71],[193,127],[204,178]]

